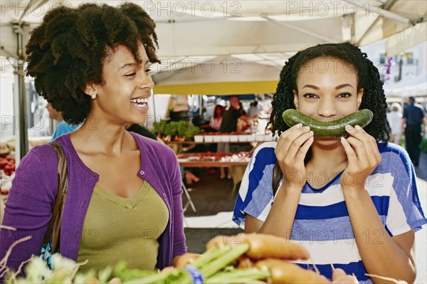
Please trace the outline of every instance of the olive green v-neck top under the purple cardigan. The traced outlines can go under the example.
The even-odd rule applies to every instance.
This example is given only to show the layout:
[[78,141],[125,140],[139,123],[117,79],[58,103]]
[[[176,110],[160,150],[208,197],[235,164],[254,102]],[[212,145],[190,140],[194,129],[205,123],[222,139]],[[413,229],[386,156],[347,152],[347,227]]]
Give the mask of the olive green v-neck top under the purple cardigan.
[[154,270],[169,211],[157,191],[144,181],[131,198],[101,189],[93,191],[83,223],[77,261],[80,270],[100,270],[126,261],[129,268]]

